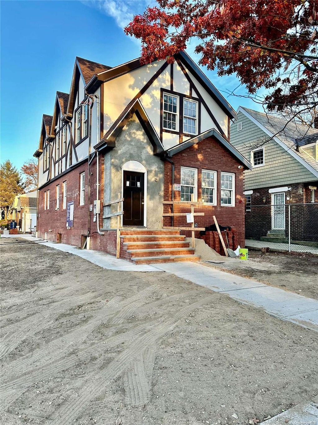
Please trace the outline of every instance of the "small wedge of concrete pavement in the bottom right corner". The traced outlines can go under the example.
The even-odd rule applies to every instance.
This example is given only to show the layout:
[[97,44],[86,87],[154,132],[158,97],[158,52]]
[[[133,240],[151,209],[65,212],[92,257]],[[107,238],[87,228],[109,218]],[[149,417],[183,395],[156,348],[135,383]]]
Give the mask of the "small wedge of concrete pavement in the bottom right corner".
[[266,425],[317,425],[318,404],[303,403],[262,422]]

